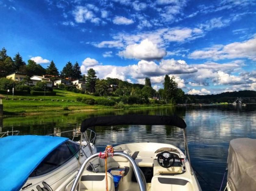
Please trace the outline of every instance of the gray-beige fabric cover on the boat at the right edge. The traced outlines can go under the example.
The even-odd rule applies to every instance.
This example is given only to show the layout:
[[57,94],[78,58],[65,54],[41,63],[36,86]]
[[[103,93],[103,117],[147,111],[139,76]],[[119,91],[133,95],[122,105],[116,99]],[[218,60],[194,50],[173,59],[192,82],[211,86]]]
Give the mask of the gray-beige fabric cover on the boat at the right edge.
[[230,141],[227,165],[231,191],[256,190],[256,139]]

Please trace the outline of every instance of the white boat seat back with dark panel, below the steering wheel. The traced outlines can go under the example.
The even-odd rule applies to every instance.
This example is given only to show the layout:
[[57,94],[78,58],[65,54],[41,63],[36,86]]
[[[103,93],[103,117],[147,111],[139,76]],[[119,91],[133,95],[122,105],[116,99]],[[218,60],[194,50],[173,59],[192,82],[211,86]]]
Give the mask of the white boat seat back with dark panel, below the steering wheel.
[[169,191],[194,190],[192,184],[186,179],[156,175],[156,176],[153,176],[151,180],[151,191],[155,191],[159,189],[169,190]]

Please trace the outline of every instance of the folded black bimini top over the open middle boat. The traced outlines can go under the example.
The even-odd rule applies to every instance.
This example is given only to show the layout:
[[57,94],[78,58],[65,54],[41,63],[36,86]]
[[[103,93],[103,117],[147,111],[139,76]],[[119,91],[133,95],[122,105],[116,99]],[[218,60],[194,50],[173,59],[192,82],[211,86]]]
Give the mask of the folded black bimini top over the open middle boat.
[[177,116],[160,115],[111,115],[85,119],[81,124],[81,132],[94,126],[112,125],[172,125],[182,129],[187,127],[185,121]]

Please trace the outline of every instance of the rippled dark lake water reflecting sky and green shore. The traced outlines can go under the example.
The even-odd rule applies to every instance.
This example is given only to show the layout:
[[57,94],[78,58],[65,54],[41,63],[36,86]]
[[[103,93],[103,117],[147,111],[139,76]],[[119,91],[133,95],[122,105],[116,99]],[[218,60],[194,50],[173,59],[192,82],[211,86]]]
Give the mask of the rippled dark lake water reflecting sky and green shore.
[[[201,175],[198,180],[203,190],[219,190],[228,155],[229,141],[234,138],[256,138],[256,105],[247,106],[193,106],[135,109],[132,111],[108,111],[76,113],[54,116],[27,116],[0,119],[2,132],[18,130],[19,135],[48,135],[54,132],[79,129],[85,118],[116,114],[176,114],[187,123],[188,147],[191,163]],[[95,144],[98,151],[107,144],[128,142],[169,143],[184,149],[183,134],[179,128],[165,126],[114,126],[95,127]],[[72,134],[62,136],[72,137]],[[224,182],[226,185],[226,182]],[[210,184],[211,186],[208,186]],[[215,188],[215,189],[214,189]]]

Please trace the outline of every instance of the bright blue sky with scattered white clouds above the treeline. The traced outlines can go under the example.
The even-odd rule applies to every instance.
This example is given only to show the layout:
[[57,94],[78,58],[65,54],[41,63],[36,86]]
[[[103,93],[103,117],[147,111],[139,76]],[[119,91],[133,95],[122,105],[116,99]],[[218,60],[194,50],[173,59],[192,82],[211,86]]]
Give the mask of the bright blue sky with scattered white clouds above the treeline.
[[256,90],[254,0],[0,0],[0,47],[59,70],[155,89],[174,75],[188,94]]

